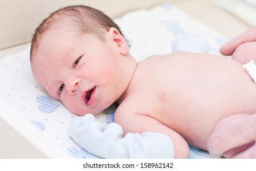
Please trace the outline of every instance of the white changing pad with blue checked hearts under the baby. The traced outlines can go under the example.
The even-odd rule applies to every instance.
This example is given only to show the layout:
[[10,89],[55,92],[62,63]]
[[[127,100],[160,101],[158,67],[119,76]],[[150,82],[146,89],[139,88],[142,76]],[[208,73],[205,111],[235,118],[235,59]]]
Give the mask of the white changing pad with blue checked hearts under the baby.
[[[184,34],[204,37],[209,53],[219,53],[227,41],[223,35],[186,15],[171,4],[161,4],[149,10],[128,12],[115,22],[131,45],[136,60],[154,54],[171,53],[172,43]],[[113,66],[109,66],[113,67]],[[36,145],[48,158],[98,158],[77,145],[67,131],[72,114],[34,80],[29,64],[29,47],[18,54],[0,60],[0,117]],[[139,105],[139,104],[138,104]],[[115,107],[111,106],[96,120],[114,122]],[[9,111],[8,115],[7,112]],[[190,158],[211,158],[208,153],[190,148]]]

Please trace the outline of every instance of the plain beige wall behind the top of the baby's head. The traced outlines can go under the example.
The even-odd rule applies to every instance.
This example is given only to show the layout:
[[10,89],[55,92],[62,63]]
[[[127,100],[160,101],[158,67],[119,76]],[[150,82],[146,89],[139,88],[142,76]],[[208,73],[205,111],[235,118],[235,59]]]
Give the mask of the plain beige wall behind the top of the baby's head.
[[0,0],[0,49],[29,42],[44,18],[66,5],[90,5],[115,17],[131,9],[149,8],[162,2],[165,0]]

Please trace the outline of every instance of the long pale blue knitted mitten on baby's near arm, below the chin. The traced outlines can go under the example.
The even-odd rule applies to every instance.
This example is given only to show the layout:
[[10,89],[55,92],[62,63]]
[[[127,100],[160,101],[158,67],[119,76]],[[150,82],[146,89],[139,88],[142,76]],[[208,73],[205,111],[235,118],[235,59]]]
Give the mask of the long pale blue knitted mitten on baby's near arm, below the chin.
[[171,137],[161,133],[128,133],[117,123],[106,128],[91,114],[71,122],[69,136],[82,148],[101,158],[174,158]]

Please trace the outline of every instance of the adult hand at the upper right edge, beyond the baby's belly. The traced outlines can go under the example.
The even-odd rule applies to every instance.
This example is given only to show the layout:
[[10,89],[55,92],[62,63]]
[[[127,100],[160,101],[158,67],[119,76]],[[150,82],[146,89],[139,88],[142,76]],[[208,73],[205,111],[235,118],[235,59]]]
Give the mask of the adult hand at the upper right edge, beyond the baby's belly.
[[226,56],[232,55],[236,48],[242,43],[256,42],[256,26],[231,39],[220,48],[220,53]]

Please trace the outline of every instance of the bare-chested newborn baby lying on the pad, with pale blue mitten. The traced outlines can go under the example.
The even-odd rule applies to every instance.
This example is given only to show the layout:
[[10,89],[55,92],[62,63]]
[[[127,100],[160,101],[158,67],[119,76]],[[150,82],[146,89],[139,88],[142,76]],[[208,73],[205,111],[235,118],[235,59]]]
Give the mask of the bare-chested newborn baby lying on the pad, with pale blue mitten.
[[[220,120],[256,112],[250,66],[182,51],[136,62],[129,49],[108,16],[80,5],[52,13],[32,40],[34,78],[74,114],[87,114],[69,134],[95,155],[187,158],[188,145],[208,150]],[[93,115],[115,102],[115,123],[103,128]]]

